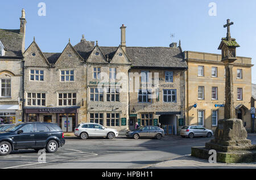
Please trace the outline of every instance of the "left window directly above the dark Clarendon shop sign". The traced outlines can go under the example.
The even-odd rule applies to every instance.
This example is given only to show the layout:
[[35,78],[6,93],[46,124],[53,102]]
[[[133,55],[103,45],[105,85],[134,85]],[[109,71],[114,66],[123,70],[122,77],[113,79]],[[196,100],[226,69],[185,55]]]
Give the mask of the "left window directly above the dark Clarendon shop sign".
[[27,93],[28,106],[46,106],[46,93]]

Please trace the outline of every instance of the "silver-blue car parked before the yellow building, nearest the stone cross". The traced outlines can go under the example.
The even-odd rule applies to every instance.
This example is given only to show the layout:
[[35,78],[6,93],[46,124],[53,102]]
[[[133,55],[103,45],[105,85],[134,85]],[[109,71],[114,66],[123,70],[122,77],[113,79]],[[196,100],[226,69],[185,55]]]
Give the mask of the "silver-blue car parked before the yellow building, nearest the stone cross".
[[212,137],[213,131],[208,130],[203,126],[183,126],[180,131],[181,137],[193,138],[195,136],[205,136],[207,138]]

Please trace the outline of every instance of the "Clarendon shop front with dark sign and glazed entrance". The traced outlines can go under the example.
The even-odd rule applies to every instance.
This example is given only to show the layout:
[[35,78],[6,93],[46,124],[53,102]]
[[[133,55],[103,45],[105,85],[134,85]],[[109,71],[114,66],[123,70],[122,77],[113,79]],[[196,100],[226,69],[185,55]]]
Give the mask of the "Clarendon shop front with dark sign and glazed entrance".
[[63,132],[73,132],[78,124],[79,108],[25,108],[26,122],[57,123]]

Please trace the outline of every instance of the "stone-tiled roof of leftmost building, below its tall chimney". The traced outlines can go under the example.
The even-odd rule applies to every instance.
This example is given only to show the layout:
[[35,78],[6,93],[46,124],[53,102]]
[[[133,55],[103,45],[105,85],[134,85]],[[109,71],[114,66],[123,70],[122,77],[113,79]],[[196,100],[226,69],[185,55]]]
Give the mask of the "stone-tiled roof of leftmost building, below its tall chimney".
[[19,29],[0,29],[0,40],[7,49],[4,57],[23,57],[23,34],[19,33]]

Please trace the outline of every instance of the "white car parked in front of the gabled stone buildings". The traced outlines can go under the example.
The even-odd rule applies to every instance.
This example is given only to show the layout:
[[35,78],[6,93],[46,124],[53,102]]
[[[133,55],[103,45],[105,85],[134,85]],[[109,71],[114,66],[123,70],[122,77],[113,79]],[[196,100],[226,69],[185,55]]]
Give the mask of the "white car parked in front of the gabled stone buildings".
[[74,134],[80,139],[88,139],[88,137],[107,137],[108,139],[113,139],[118,136],[118,131],[97,123],[81,123],[75,128]]

